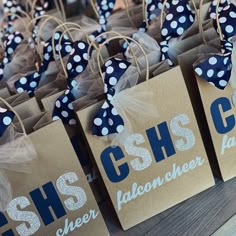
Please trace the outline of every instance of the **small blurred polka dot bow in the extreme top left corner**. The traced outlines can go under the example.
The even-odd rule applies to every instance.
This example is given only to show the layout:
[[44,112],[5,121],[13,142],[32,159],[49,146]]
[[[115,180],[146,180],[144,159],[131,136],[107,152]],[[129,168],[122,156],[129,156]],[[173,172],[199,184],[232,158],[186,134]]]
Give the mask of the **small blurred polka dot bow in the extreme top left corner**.
[[[3,12],[4,14],[13,13],[20,15],[22,6],[14,0],[3,0]],[[5,33],[11,33],[13,30],[13,23],[17,19],[16,16],[8,16],[7,24],[4,25]]]

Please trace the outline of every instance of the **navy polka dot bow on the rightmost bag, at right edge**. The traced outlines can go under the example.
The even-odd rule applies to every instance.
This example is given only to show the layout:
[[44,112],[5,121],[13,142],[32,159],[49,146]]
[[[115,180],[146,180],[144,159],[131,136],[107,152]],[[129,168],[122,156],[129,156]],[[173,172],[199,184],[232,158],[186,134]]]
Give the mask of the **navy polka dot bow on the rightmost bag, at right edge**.
[[[216,20],[214,26],[217,28]],[[224,89],[232,73],[232,37],[236,36],[236,6],[230,4],[219,14],[219,22],[223,34],[221,41],[222,53],[208,57],[206,60],[195,66],[195,72],[198,76],[208,81],[213,86]]]

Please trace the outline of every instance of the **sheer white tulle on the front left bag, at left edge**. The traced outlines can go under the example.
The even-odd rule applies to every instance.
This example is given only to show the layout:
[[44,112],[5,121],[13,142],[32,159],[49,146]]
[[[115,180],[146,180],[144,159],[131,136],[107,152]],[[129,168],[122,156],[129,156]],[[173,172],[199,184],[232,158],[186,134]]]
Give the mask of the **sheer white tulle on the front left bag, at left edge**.
[[10,126],[0,139],[0,211],[5,211],[12,199],[11,184],[4,177],[4,170],[27,173],[30,164],[37,157],[30,138]]

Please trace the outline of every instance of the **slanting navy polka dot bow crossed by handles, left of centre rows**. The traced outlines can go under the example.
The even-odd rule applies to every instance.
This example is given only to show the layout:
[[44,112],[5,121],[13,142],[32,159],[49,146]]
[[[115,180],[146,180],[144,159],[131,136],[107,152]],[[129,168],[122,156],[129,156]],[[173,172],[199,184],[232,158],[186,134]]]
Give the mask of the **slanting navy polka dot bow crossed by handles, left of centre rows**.
[[65,57],[71,52],[72,42],[66,35],[64,35],[61,45],[59,45],[61,35],[61,32],[56,32],[54,38],[50,38],[45,43],[43,49],[43,61],[39,67],[39,70],[32,74],[24,76],[15,82],[15,88],[18,93],[26,91],[30,96],[33,96],[34,91],[38,88],[38,85],[40,83],[42,73],[47,71],[50,62],[54,61],[52,40],[54,40],[55,43],[56,59],[59,57],[60,53],[62,57]]

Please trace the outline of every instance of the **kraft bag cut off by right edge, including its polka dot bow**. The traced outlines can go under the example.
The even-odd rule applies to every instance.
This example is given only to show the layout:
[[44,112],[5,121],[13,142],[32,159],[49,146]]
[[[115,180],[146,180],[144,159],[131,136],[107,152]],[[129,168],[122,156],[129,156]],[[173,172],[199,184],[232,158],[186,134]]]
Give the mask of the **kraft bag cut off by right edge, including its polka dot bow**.
[[[192,97],[195,95],[192,98],[193,105],[203,130],[206,147],[211,149],[208,152],[213,170],[215,175],[224,181],[236,176],[234,158],[236,21],[232,17],[235,14],[236,6],[233,4],[224,8],[219,14],[219,19],[225,17],[227,20],[226,23],[219,21],[221,52],[218,49],[209,50],[209,47],[207,51],[207,46],[203,46],[179,58],[182,61],[182,70],[190,94]],[[232,32],[227,29],[232,29]],[[191,54],[192,56],[189,56]],[[187,60],[191,64],[187,64]]]

